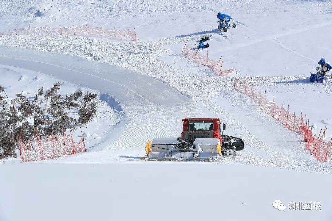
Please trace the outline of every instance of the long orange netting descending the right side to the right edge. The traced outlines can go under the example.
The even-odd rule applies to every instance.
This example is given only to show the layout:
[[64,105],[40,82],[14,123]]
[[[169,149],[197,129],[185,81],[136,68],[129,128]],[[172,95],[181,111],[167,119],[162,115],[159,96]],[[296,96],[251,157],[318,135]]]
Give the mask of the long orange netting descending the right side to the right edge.
[[263,112],[280,121],[289,130],[301,134],[306,141],[306,149],[312,152],[312,155],[319,161],[332,161],[332,152],[329,151],[332,138],[328,142],[324,140],[326,128],[324,128],[322,136],[320,136],[321,130],[318,137],[315,138],[312,134],[312,129],[310,130],[309,127],[309,119],[307,120],[305,117],[304,124],[302,113],[301,117],[297,117],[295,113],[290,113],[289,105],[286,109],[284,102],[281,107],[278,107],[274,102],[274,98],[273,102],[268,101],[266,92],[263,95],[260,90],[255,91],[252,81],[237,81],[235,77],[234,89],[248,95],[260,106]]

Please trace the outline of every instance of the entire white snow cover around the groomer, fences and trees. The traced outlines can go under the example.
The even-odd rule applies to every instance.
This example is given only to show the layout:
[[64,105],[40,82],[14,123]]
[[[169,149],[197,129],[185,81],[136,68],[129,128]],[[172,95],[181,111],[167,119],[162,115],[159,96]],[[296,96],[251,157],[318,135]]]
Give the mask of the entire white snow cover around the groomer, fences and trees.
[[[218,12],[237,28],[217,31]],[[331,220],[331,163],[318,161],[302,136],[235,91],[235,73],[220,77],[180,55],[185,42],[194,49],[208,35],[211,59],[223,56],[237,79],[253,78],[269,99],[289,102],[319,129],[332,121],[332,85],[308,77],[321,57],[331,60],[331,17],[332,2],[314,0],[1,2],[0,32],[87,22],[135,27],[139,40],[0,36],[0,79],[7,79],[0,84],[13,93],[34,84],[11,82],[4,70],[98,91],[107,108],[122,111],[84,128],[100,130],[100,141],[87,138],[87,153],[4,160],[0,220]],[[220,117],[245,149],[220,162],[141,161],[148,140],[180,136],[183,117]],[[273,208],[276,199],[286,211]],[[290,202],[321,208],[293,211]]]

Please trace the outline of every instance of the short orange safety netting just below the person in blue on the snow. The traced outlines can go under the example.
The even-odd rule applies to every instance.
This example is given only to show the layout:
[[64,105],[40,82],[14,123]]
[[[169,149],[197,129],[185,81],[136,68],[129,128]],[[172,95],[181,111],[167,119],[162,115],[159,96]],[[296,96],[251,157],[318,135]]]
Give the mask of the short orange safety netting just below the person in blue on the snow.
[[187,42],[186,42],[185,46],[183,47],[181,55],[186,55],[186,56],[192,58],[197,63],[205,65],[205,66],[211,68],[215,73],[217,73],[220,76],[226,76],[226,75],[229,75],[229,74],[231,74],[231,73],[233,73],[235,71],[234,68],[228,69],[228,70],[224,70],[222,68],[222,64],[224,62],[224,59],[221,60],[221,57],[220,57],[219,61],[213,61],[212,59],[210,59],[208,57],[208,54],[201,55],[199,53],[199,49],[198,48],[189,48],[187,46]]

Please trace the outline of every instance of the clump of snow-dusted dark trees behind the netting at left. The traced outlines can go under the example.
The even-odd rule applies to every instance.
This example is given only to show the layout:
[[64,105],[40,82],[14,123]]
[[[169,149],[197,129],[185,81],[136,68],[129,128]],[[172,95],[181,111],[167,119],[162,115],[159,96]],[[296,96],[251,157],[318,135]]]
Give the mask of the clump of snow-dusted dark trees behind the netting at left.
[[[96,102],[93,100],[97,98],[97,94],[88,93],[82,98],[82,91],[77,91],[63,97],[58,93],[60,85],[60,82],[56,83],[51,89],[46,90],[39,104],[37,101],[43,94],[43,87],[38,90],[32,102],[23,94],[16,94],[15,101],[18,102],[18,108],[14,105],[5,108],[4,100],[7,94],[6,97],[0,95],[0,101],[3,102],[3,108],[0,108],[0,154],[14,153],[19,143],[19,135],[22,141],[26,142],[36,132],[39,136],[48,136],[51,132],[59,134],[67,129],[74,130],[77,124],[76,117],[70,117],[65,111],[66,108],[79,107],[80,125],[93,119],[96,114]],[[0,86],[1,92],[4,92],[4,89]],[[80,98],[82,99],[78,101]],[[41,108],[43,100],[45,110]],[[30,123],[32,119],[33,123]]]

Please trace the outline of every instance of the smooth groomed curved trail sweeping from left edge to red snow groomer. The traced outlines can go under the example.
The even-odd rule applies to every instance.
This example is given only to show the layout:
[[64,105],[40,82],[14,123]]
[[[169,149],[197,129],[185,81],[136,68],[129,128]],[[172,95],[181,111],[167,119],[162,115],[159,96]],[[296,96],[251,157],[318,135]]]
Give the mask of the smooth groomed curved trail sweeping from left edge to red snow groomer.
[[197,116],[201,112],[190,97],[181,94],[173,87],[108,64],[86,61],[73,56],[59,57],[52,53],[40,55],[37,51],[21,51],[20,58],[13,58],[17,57],[17,54],[10,49],[2,48],[2,52],[6,53],[6,56],[0,55],[2,65],[51,75],[89,86],[114,97],[123,107],[126,118],[120,126],[115,126],[118,137],[112,145],[106,147],[108,157],[110,154],[143,155],[148,139],[178,137],[181,132],[179,122],[182,117]]

